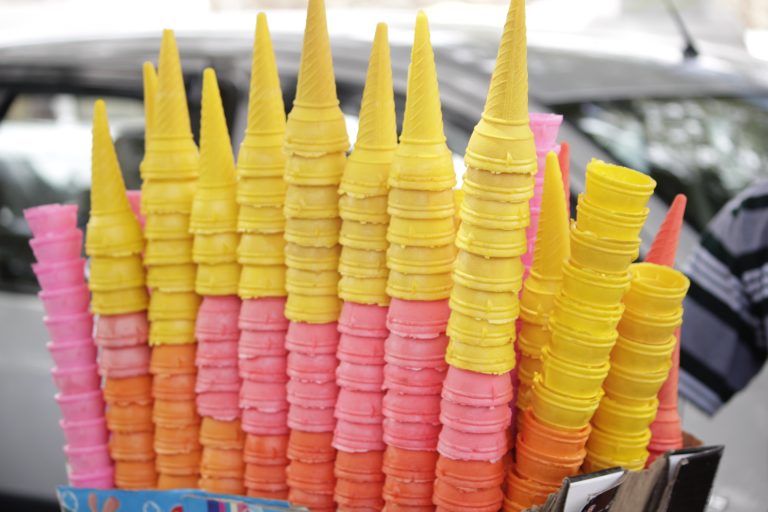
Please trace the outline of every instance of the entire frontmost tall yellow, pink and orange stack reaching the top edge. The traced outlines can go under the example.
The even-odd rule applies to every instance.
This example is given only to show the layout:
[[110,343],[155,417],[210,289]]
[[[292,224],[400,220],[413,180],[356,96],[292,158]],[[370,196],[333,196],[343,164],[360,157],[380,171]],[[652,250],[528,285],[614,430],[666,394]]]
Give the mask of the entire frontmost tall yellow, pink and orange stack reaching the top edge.
[[465,163],[434,503],[450,511],[498,510],[502,459],[509,447],[520,257],[527,247],[536,173],[522,1],[510,3],[488,99]]

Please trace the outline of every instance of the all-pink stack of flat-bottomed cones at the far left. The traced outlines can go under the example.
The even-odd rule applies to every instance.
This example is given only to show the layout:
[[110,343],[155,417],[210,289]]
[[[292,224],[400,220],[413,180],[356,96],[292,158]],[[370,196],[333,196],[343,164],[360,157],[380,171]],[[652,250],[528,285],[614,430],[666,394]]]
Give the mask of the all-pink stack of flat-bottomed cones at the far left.
[[85,284],[85,261],[80,257],[83,232],[77,228],[77,205],[50,204],[24,211],[32,235],[32,268],[42,291],[43,321],[51,341],[53,382],[59,391],[59,425],[69,483],[75,487],[109,489],[114,469],[107,447],[104,400],[99,390],[90,295]]

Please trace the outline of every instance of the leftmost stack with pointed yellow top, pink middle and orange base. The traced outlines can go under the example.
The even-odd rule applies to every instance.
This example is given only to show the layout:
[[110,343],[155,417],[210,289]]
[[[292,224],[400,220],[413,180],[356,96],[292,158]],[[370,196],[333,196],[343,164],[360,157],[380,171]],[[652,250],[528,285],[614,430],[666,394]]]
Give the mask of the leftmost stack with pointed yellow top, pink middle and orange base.
[[[91,257],[89,287],[98,314],[99,372],[106,378],[109,445],[115,484],[121,489],[152,489],[155,471],[152,396],[130,390],[149,375],[147,289],[141,252],[141,226],[134,215],[112,145],[103,101],[93,111],[93,181],[86,252]],[[141,386],[139,386],[141,387]],[[137,388],[138,389],[138,388]],[[121,396],[126,393],[125,396]]]

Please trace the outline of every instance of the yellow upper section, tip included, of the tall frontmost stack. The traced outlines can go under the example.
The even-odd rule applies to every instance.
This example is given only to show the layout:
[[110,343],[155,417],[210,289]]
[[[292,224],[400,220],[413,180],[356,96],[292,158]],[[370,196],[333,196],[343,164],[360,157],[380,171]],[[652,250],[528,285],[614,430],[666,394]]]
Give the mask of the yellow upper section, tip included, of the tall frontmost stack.
[[502,374],[515,366],[513,340],[526,251],[536,148],[528,121],[525,6],[510,4],[485,110],[465,156],[460,249],[453,273],[448,362]]

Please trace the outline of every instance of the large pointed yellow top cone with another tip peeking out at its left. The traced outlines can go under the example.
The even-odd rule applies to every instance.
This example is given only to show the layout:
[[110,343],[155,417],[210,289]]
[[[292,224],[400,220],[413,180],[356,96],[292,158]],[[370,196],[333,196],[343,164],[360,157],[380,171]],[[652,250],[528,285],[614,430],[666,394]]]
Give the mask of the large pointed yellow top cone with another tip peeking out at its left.
[[197,147],[192,139],[187,93],[172,30],[163,31],[150,138],[141,163],[144,179],[194,179]]

